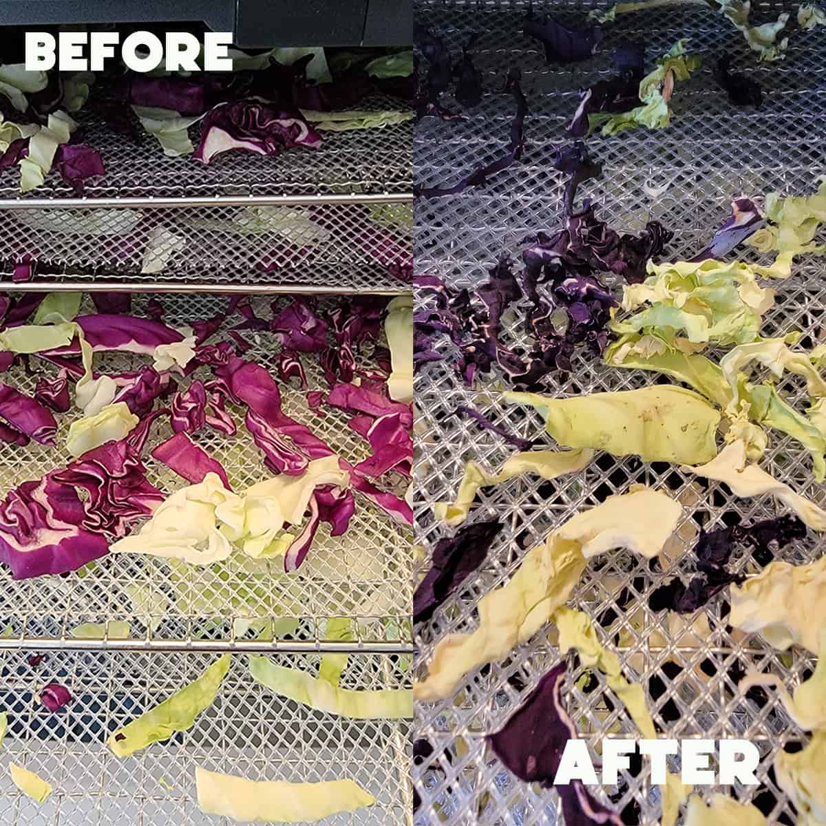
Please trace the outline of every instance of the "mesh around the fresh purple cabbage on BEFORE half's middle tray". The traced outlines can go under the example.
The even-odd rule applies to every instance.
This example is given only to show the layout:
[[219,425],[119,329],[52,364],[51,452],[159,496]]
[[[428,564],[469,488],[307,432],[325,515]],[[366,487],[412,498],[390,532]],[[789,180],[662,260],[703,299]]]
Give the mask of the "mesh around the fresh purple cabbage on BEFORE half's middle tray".
[[[140,315],[140,307],[150,298],[135,297],[133,311]],[[211,318],[225,311],[227,304],[225,298],[196,295],[160,300],[165,307],[164,322],[173,327]],[[254,307],[259,316],[269,317],[268,301],[256,300]],[[240,316],[230,316],[228,325],[239,320]],[[220,341],[225,335],[219,330],[208,340]],[[245,331],[241,335],[254,344],[245,357],[276,374],[273,356],[279,345],[273,342],[272,334]],[[371,364],[368,354],[358,358],[365,366]],[[131,354],[95,357],[95,369],[107,373],[134,370],[144,363],[145,358]],[[305,366],[308,389],[327,389],[316,360],[306,358]],[[37,364],[37,373],[48,370],[45,363]],[[208,375],[199,368],[191,378]],[[36,376],[16,367],[4,374],[4,381],[31,394]],[[184,387],[186,381],[179,382],[179,386]],[[347,426],[346,412],[330,409],[325,417],[317,416],[306,405],[306,390],[284,384],[281,387],[287,415],[306,422],[336,453],[353,463],[369,455],[367,442]],[[235,436],[202,430],[193,438],[224,465],[230,484],[238,491],[272,473],[264,467],[263,454],[243,426],[242,411],[231,404],[228,410],[239,425]],[[67,414],[56,415],[57,448],[35,443],[26,448],[0,444],[2,495],[27,479],[40,478],[69,462],[66,434],[78,412],[73,408]],[[148,478],[168,492],[186,482],[149,453],[171,434],[166,421],[153,425],[144,451]],[[403,493],[405,482],[404,477],[389,474],[382,477],[380,485]],[[278,645],[287,650],[314,650],[325,641],[327,619],[344,616],[358,619],[354,640],[344,643],[344,648],[409,649],[411,531],[393,523],[360,494],[356,496],[356,512],[347,533],[330,538],[329,530],[322,525],[306,562],[295,574],[285,574],[278,559],[253,560],[240,551],[209,567],[142,555],[109,554],[88,571],[21,581],[12,580],[11,572],[3,567],[0,624],[6,630],[0,647],[107,644],[115,648],[268,648],[273,643],[254,638],[256,629],[247,630],[249,622],[292,618],[294,627],[280,626]],[[112,621],[130,624],[127,640],[96,643],[70,634],[78,624]]]

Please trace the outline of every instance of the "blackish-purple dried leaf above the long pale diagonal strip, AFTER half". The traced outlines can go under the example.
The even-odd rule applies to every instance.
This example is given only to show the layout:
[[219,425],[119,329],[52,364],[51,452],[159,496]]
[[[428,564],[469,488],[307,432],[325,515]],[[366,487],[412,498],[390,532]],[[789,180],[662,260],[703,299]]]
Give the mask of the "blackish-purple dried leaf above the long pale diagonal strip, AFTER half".
[[439,539],[433,549],[430,569],[413,595],[413,622],[426,622],[439,605],[458,591],[462,583],[487,558],[487,552],[502,529],[496,520],[465,525],[449,538]]

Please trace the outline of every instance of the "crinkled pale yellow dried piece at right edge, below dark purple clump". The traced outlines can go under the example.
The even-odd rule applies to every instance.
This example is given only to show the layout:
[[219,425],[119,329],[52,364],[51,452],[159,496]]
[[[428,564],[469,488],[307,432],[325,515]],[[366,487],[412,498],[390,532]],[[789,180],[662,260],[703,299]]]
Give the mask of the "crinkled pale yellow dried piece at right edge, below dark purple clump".
[[759,633],[774,648],[819,650],[826,604],[826,557],[808,565],[773,562],[729,591],[734,628]]

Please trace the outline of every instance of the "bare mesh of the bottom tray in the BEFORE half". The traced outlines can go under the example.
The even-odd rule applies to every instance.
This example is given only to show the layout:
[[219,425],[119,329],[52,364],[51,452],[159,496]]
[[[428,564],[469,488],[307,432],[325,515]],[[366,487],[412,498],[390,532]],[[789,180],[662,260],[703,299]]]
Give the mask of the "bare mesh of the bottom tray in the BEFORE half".
[[[319,657],[276,657],[287,667],[317,670]],[[376,803],[325,824],[409,823],[409,729],[404,720],[353,720],[311,710],[254,681],[247,657],[234,655],[216,700],[188,732],[116,757],[106,738],[179,691],[214,655],[52,653],[30,667],[25,653],[0,655],[2,709],[9,727],[0,767],[0,821],[7,826],[228,826],[202,814],[195,767],[252,780],[317,782],[348,777]],[[73,700],[51,714],[37,700],[58,681]],[[409,686],[390,657],[349,657],[342,686],[377,690]],[[35,771],[54,786],[43,804],[22,795],[7,763]]]

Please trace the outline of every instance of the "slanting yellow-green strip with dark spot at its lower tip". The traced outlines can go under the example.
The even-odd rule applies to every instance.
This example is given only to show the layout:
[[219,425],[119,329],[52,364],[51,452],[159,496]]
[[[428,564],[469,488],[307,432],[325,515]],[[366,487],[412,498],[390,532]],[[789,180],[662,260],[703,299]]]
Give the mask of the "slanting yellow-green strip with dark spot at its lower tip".
[[168,740],[175,732],[191,729],[197,715],[215,700],[229,668],[230,655],[218,657],[197,680],[112,733],[109,748],[117,757],[129,757],[151,743]]

